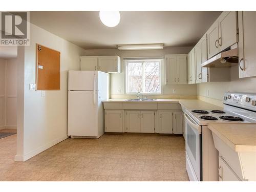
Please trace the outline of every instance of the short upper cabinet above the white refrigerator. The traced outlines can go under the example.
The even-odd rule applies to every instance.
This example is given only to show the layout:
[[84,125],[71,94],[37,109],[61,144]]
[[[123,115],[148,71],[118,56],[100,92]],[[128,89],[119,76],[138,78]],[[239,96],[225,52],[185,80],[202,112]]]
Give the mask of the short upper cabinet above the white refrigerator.
[[120,73],[119,56],[83,56],[79,59],[79,70]]

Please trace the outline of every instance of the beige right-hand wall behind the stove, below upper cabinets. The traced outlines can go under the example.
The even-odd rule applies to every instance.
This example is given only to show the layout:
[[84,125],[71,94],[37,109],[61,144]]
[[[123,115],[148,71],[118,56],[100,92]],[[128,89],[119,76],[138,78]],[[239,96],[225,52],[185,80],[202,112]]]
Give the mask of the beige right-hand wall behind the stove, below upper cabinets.
[[239,79],[238,66],[234,66],[231,68],[230,82],[205,82],[198,84],[198,96],[222,100],[223,94],[226,91],[256,94],[256,78]]

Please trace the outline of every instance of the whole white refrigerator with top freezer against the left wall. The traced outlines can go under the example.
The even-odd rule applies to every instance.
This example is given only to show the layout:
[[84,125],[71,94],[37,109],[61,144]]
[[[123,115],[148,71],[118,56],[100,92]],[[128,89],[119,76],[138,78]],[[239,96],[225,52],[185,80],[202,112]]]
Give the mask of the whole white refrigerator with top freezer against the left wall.
[[109,99],[109,74],[100,71],[69,71],[68,135],[99,138],[104,134],[102,100]]

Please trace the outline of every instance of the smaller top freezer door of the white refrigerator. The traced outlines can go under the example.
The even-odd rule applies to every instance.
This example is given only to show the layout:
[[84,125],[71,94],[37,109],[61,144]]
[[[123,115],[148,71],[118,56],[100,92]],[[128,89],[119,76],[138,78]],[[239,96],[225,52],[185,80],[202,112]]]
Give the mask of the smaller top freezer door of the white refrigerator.
[[69,71],[69,91],[98,91],[98,71]]

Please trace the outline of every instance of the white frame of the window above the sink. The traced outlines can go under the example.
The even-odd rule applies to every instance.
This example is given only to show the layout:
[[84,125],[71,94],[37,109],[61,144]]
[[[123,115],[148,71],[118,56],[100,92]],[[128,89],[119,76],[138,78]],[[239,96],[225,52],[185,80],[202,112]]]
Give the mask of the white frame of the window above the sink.
[[[150,62],[150,61],[158,61],[159,62],[159,83],[160,83],[160,92],[159,93],[146,93],[144,92],[145,89],[145,74],[144,74],[144,62]],[[142,62],[142,93],[143,95],[161,95],[162,94],[162,71],[161,71],[161,65],[162,65],[162,59],[140,59],[140,60],[126,60],[125,61],[125,94],[130,95],[136,95],[138,92],[128,92],[127,91],[127,63],[128,62]]]

